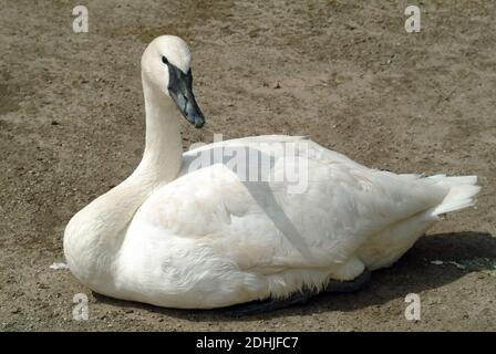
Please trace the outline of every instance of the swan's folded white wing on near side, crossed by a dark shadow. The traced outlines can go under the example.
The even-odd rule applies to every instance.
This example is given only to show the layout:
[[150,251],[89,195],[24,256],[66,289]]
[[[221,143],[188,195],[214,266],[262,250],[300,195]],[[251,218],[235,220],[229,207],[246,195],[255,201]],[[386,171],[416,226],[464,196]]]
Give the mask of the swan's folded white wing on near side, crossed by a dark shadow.
[[276,272],[344,262],[369,237],[443,198],[425,179],[356,166],[310,160],[307,189],[288,194],[285,183],[244,183],[213,165],[157,190],[138,217],[240,269]]

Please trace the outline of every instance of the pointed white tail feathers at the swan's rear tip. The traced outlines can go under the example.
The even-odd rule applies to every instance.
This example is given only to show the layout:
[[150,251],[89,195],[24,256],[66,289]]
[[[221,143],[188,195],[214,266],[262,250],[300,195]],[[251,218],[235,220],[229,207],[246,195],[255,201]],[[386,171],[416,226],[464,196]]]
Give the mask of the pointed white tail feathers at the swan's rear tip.
[[433,209],[432,214],[434,216],[473,207],[475,205],[476,200],[474,197],[480,190],[480,187],[477,186],[477,176],[446,177],[445,175],[435,175],[428,178],[436,180],[436,183],[443,187],[450,188],[443,202]]

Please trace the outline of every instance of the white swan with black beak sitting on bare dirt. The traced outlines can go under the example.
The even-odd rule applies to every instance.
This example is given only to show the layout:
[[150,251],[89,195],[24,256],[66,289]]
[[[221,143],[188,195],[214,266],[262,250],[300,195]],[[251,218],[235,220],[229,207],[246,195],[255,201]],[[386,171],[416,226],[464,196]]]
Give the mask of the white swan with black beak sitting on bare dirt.
[[[155,39],[142,58],[142,80],[143,159],[79,211],[64,235],[73,274],[108,296],[211,309],[326,290],[392,264],[438,215],[472,206],[479,190],[475,176],[370,169],[302,137],[247,137],[183,154],[176,110],[196,127],[204,124],[186,43]],[[291,192],[294,181],[272,177],[244,181],[225,156],[198,163],[219,149],[260,153],[258,162],[238,159],[239,170],[256,171],[256,179],[264,157],[276,175],[299,163],[308,171],[304,191]]]

